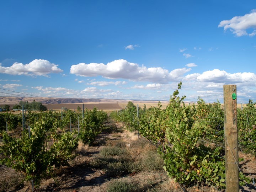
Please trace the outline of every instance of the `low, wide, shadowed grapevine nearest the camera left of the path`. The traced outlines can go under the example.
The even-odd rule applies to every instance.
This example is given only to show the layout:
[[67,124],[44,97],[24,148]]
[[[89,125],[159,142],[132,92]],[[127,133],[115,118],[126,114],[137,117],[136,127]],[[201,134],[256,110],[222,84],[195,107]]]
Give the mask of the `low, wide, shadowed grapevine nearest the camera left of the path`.
[[[30,137],[27,130],[17,139],[3,132],[0,153],[4,158],[0,164],[23,172],[26,180],[33,180],[38,185],[42,176],[53,173],[54,167],[68,165],[78,146],[78,140],[73,139],[73,135],[57,135],[55,129],[54,125],[49,128],[47,122],[40,120],[31,127]],[[48,141],[53,141],[53,145],[47,147]]]

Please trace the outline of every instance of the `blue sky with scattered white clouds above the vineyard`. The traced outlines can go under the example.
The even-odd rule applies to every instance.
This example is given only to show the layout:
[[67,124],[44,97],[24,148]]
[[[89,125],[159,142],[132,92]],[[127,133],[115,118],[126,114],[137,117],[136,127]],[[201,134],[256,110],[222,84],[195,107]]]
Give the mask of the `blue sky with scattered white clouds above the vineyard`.
[[255,0],[0,0],[0,96],[159,101],[180,81],[256,101]]

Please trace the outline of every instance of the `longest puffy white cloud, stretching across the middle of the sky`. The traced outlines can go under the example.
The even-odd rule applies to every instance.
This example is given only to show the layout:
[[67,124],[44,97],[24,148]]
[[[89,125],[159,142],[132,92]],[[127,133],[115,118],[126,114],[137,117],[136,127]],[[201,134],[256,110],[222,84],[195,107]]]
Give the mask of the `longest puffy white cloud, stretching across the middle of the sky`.
[[177,81],[184,73],[191,69],[182,68],[172,70],[170,73],[167,69],[160,67],[146,68],[144,65],[139,66],[136,63],[130,63],[127,60],[119,59],[107,63],[79,63],[72,65],[71,74],[79,76],[97,76],[102,75],[108,79],[129,79],[132,81],[149,81],[154,83],[168,83],[169,81]]

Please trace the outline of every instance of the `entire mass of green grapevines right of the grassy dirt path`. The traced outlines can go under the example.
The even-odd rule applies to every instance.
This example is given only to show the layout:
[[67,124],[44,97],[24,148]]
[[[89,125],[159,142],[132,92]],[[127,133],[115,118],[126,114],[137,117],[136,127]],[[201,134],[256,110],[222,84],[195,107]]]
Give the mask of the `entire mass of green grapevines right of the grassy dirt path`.
[[[209,142],[202,142],[224,143],[223,108],[218,100],[207,104],[200,97],[197,105],[185,106],[185,96],[178,96],[181,85],[180,82],[165,110],[161,110],[160,102],[158,107],[139,110],[139,118],[135,118],[136,123],[139,121],[138,127],[131,118],[135,114],[132,103],[129,103],[129,107],[127,105],[126,110],[112,112],[111,118],[123,122],[128,129],[132,125],[140,135],[157,144],[164,159],[164,169],[175,181],[186,185],[206,181],[223,188],[224,150],[216,146],[212,148]],[[255,117],[255,103],[251,100],[243,111],[238,110],[239,138],[247,153],[255,153]]]

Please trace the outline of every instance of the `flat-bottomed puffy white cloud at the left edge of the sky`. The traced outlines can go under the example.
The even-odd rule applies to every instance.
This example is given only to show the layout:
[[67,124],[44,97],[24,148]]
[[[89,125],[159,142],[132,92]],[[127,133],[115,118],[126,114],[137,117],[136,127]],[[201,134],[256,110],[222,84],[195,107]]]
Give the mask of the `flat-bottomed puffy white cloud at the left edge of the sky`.
[[16,62],[10,67],[0,65],[0,73],[11,75],[48,76],[50,73],[61,73],[62,71],[58,65],[43,59],[35,59],[28,64]]

